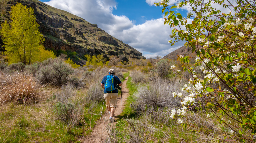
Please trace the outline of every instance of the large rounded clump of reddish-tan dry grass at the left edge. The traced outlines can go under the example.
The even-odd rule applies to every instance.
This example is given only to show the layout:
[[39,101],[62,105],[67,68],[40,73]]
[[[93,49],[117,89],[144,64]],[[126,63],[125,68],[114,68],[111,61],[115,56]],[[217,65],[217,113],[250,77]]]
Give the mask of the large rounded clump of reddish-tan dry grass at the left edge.
[[18,72],[7,75],[0,72],[0,104],[39,102],[43,97],[40,87],[31,75]]

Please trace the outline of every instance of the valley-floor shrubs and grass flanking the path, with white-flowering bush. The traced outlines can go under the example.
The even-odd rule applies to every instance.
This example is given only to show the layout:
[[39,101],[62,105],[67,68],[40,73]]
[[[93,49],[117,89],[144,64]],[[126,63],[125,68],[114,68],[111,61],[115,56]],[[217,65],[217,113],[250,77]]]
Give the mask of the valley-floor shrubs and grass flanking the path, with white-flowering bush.
[[[129,76],[130,96],[106,142],[255,142],[255,2],[169,2],[155,4],[176,28],[169,42],[186,40],[196,57],[85,55],[84,66],[66,58],[71,51],[31,64],[1,59],[0,139],[76,142],[90,134],[104,101],[100,82],[114,68]],[[182,7],[193,13],[172,11]]]

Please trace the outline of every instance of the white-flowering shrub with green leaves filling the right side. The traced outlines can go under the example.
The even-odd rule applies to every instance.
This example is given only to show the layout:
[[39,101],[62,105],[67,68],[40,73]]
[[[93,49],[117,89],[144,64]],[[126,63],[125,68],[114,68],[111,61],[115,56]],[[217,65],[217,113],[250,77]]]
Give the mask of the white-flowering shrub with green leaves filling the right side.
[[[155,3],[163,6],[164,24],[175,27],[169,43],[174,45],[178,40],[186,40],[185,45],[196,52],[196,63],[189,64],[189,56],[178,59],[183,70],[189,71],[192,79],[183,90],[189,93],[184,97],[173,92],[175,97],[182,96],[182,109],[173,110],[172,119],[178,123],[193,126],[185,122],[186,112],[193,107],[206,106],[220,124],[229,133],[220,140],[254,142],[256,133],[256,21],[254,0],[236,2],[229,0],[198,1],[183,0],[177,5],[169,5],[169,0]],[[229,8],[223,13],[213,8],[219,5]],[[172,8],[190,8],[186,17],[175,13]],[[177,35],[178,34],[178,35]],[[200,68],[204,77],[197,77],[195,71]],[[171,67],[175,70],[175,67]],[[217,110],[216,110],[217,109]],[[211,115],[207,115],[211,118]],[[229,119],[229,120],[225,120]],[[235,124],[240,124],[240,127]],[[200,131],[210,134],[201,128]]]

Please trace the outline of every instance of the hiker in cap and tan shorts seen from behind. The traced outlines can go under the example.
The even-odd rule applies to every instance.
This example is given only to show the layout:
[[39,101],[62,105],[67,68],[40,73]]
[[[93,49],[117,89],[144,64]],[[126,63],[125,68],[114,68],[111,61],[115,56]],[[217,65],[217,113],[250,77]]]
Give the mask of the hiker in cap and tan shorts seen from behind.
[[[118,90],[117,90],[117,85],[121,86],[122,82],[120,81],[120,79],[115,75],[115,70],[114,69],[109,69],[108,71],[109,75],[113,75],[113,85],[114,85],[114,89],[112,91],[109,91],[109,89],[105,89],[106,85],[107,85],[107,78],[108,75],[104,76],[102,81],[101,81],[101,87],[104,89],[104,99],[106,101],[106,106],[107,109],[109,111],[110,117],[110,123],[114,122],[114,113],[115,113],[115,108],[116,108],[116,104],[117,104],[117,97],[118,97]],[[108,83],[109,85],[110,83]]]

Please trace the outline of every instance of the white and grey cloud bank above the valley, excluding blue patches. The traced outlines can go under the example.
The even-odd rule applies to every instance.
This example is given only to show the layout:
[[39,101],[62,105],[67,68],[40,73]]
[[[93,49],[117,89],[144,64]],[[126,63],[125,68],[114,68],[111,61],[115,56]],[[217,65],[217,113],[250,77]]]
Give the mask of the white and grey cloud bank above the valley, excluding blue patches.
[[[153,5],[156,1],[146,2]],[[163,24],[163,18],[135,25],[135,22],[125,15],[112,14],[113,9],[117,8],[115,0],[51,0],[45,3],[97,24],[99,28],[134,47],[147,58],[156,55],[163,57],[184,45],[184,42],[181,42],[171,47],[168,43],[171,29],[169,25]]]

